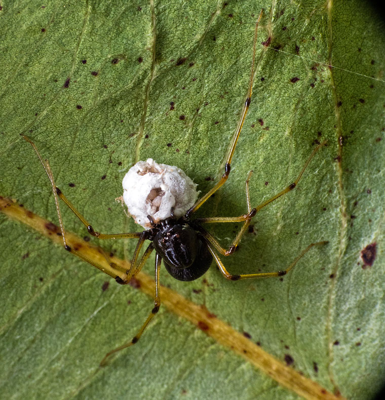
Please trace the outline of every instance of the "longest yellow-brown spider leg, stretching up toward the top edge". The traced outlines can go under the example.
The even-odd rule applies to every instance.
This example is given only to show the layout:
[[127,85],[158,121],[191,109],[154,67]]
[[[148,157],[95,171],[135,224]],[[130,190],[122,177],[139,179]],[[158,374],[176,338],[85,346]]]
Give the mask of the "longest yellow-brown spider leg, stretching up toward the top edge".
[[258,17],[257,23],[255,24],[253,58],[252,58],[252,63],[251,63],[250,82],[249,82],[249,89],[248,89],[248,92],[247,92],[247,98],[246,98],[245,105],[243,107],[243,112],[242,112],[241,119],[240,119],[240,121],[238,123],[237,130],[235,132],[235,135],[234,135],[230,150],[229,150],[228,155],[227,155],[227,161],[226,161],[226,164],[224,166],[224,174],[220,178],[219,182],[217,182],[216,185],[212,189],[210,189],[202,198],[200,198],[198,200],[198,202],[193,207],[191,207],[189,210],[187,210],[187,212],[185,214],[186,218],[190,214],[195,213],[203,205],[203,203],[205,203],[206,200],[212,194],[214,194],[226,182],[226,180],[228,178],[228,175],[230,174],[230,169],[231,169],[230,168],[230,164],[232,162],[232,158],[233,158],[233,155],[234,155],[235,148],[237,146],[238,138],[239,138],[239,135],[241,133],[241,130],[242,130],[242,127],[243,127],[243,123],[245,122],[246,114],[247,114],[247,111],[249,109],[250,102],[251,102],[251,92],[252,92],[253,77],[254,77],[255,48],[256,48],[256,43],[257,43],[258,23],[259,23],[259,20],[261,19],[261,16],[262,16],[262,10],[259,13],[259,17]]

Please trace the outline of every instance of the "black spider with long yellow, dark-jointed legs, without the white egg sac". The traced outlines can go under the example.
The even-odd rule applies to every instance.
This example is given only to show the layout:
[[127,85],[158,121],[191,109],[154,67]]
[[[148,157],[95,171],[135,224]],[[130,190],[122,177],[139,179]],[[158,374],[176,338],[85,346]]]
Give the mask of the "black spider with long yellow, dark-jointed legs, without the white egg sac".
[[[230,164],[233,159],[233,155],[235,152],[235,148],[246,118],[247,111],[251,102],[251,92],[252,92],[252,84],[253,84],[253,75],[254,75],[254,60],[255,60],[255,48],[257,41],[257,29],[258,23],[260,21],[262,15],[262,11],[259,14],[254,33],[254,44],[253,44],[253,55],[252,55],[252,64],[251,64],[251,73],[247,91],[246,101],[243,107],[242,115],[237,127],[237,130],[232,139],[230,149],[227,154],[226,163],[224,166],[224,173],[219,181],[193,206],[184,209],[183,215],[176,215],[175,208],[171,207],[169,210],[169,214],[166,218],[155,221],[151,215],[148,215],[147,224],[149,224],[149,228],[145,229],[141,232],[130,232],[130,233],[118,233],[118,234],[104,234],[100,233],[92,227],[92,225],[83,217],[83,215],[76,210],[76,208],[69,202],[69,200],[65,197],[62,191],[55,185],[54,177],[47,159],[43,159],[41,154],[38,152],[37,147],[33,143],[33,141],[22,134],[23,138],[29,142],[34,151],[36,152],[38,158],[40,159],[41,164],[43,165],[46,174],[51,182],[52,190],[54,193],[56,210],[58,214],[58,219],[60,223],[61,234],[63,238],[63,245],[65,250],[71,252],[83,260],[87,261],[91,265],[103,270],[112,276],[115,281],[119,284],[125,285],[130,282],[130,279],[134,277],[140,269],[145,264],[149,255],[153,250],[156,252],[155,257],[155,304],[152,308],[151,312],[147,316],[144,324],[141,326],[138,333],[133,337],[133,339],[122,346],[115,348],[108,352],[100,363],[101,366],[106,364],[107,358],[126,347],[129,347],[138,342],[140,337],[142,336],[145,328],[151,321],[151,319],[158,313],[159,308],[161,306],[161,298],[160,298],[160,284],[159,284],[159,272],[161,267],[161,262],[163,263],[167,269],[167,271],[174,278],[180,281],[194,281],[195,279],[201,277],[210,267],[212,261],[214,260],[217,266],[219,267],[220,272],[226,279],[231,281],[238,281],[240,279],[248,279],[248,278],[263,278],[263,277],[273,277],[273,276],[282,276],[285,275],[288,271],[290,271],[294,265],[298,262],[298,260],[308,252],[312,247],[317,245],[323,245],[327,242],[318,242],[311,243],[304,249],[299,256],[297,256],[294,261],[284,270],[276,271],[276,272],[266,272],[266,273],[248,273],[248,274],[231,274],[229,273],[221,259],[218,256],[218,253],[223,256],[229,256],[235,252],[238,244],[241,241],[242,236],[247,231],[248,226],[250,224],[251,219],[260,211],[263,207],[267,206],[277,198],[281,197],[285,193],[293,190],[300,178],[302,177],[306,167],[309,165],[311,159],[315,155],[315,153],[322,147],[324,143],[319,144],[312,152],[310,157],[307,159],[305,165],[302,170],[298,174],[297,178],[288,185],[285,189],[271,197],[270,199],[264,201],[260,205],[255,208],[251,208],[250,205],[250,195],[249,195],[249,180],[252,174],[252,171],[249,172],[249,175],[246,180],[246,204],[247,204],[247,213],[238,217],[208,217],[208,218],[192,218],[194,213],[207,201],[207,199],[212,196],[226,181],[230,174]],[[152,161],[152,160],[151,160]],[[142,162],[141,162],[142,163]],[[139,164],[139,163],[137,163]],[[170,167],[170,166],[165,166]],[[170,167],[175,168],[175,167]],[[184,173],[183,173],[184,174]],[[188,178],[189,179],[189,178]],[[135,189],[132,187],[132,189]],[[80,219],[80,221],[87,227],[88,232],[99,239],[118,239],[118,238],[136,238],[138,239],[134,255],[131,261],[131,267],[129,270],[122,270],[122,267],[118,266],[109,261],[110,268],[104,269],[101,268],[96,262],[90,259],[86,259],[84,256],[79,254],[75,249],[72,249],[66,239],[64,226],[61,218],[60,207],[59,207],[59,198],[64,202],[64,204],[70,208],[70,210]],[[180,212],[179,212],[180,214]],[[203,226],[204,223],[228,223],[228,222],[243,222],[243,226],[234,238],[232,244],[228,247],[228,249],[223,248],[219,242],[212,236]],[[150,241],[146,250],[144,251],[141,258],[139,258],[140,250],[144,244],[144,242],[148,240]],[[108,257],[105,256],[108,260]]]

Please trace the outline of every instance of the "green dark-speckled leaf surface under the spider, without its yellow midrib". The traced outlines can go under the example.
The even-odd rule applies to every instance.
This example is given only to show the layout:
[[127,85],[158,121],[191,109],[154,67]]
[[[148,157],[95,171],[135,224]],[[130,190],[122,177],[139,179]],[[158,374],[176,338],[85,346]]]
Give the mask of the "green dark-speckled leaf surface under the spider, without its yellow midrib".
[[[213,265],[193,283],[163,269],[161,283],[327,390],[372,398],[385,374],[384,26],[356,0],[227,3],[155,1],[152,13],[152,1],[2,2],[0,195],[57,224],[49,180],[20,133],[104,233],[139,230],[114,201],[139,159],[177,165],[205,193],[223,173],[263,8],[232,173],[199,215],[244,214],[249,170],[256,206],[327,139],[298,187],[261,210],[223,262],[233,273],[276,271],[310,243],[329,244],[282,279],[229,282]],[[62,215],[68,231],[87,235],[64,206]],[[0,223],[4,398],[298,398],[164,307],[94,375],[152,301],[2,213]],[[210,226],[223,246],[239,228]],[[128,260],[135,247],[91,241]],[[371,266],[361,253],[370,244]]]

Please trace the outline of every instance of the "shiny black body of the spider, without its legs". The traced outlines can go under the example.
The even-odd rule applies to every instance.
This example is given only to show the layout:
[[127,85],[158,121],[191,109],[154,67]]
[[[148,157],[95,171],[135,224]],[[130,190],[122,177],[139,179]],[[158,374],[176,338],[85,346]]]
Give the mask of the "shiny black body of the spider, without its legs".
[[196,228],[183,219],[168,218],[148,231],[155,251],[162,257],[170,275],[178,281],[198,279],[213,260],[204,237]]

